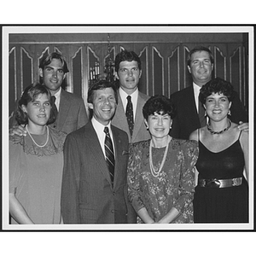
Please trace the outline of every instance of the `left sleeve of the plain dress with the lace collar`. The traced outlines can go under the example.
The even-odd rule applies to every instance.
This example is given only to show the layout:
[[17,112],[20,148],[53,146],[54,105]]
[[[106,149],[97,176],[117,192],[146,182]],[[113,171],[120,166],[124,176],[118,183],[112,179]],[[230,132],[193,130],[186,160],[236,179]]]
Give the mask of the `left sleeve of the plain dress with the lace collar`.
[[20,143],[9,141],[9,192],[15,193],[20,183]]

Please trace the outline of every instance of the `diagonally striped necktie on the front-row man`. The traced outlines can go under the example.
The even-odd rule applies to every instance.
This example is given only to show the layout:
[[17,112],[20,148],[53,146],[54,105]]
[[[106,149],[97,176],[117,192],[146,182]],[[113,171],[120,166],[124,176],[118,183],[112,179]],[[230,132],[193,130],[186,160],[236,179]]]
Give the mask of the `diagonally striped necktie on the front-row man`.
[[106,161],[108,165],[108,170],[110,173],[111,181],[113,183],[113,171],[114,171],[114,155],[113,155],[113,143],[111,137],[109,135],[108,127],[104,128],[104,132],[106,133],[105,137],[105,154]]

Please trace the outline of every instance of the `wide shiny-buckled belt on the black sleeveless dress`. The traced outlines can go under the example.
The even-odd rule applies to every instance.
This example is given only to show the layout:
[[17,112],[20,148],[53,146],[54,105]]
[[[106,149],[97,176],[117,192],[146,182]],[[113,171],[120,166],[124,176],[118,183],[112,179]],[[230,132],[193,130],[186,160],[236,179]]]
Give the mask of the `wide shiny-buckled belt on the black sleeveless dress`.
[[205,188],[228,188],[240,186],[242,177],[234,177],[230,179],[218,179],[218,178],[209,178],[209,179],[199,179],[198,186]]

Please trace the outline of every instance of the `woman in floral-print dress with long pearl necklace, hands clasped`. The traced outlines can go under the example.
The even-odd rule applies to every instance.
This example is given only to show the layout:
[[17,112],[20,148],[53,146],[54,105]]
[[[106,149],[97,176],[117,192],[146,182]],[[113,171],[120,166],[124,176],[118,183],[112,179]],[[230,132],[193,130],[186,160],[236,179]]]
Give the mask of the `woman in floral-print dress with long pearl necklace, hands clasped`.
[[166,96],[152,96],[143,107],[151,139],[130,147],[128,195],[138,223],[193,223],[195,141],[169,136],[174,117]]

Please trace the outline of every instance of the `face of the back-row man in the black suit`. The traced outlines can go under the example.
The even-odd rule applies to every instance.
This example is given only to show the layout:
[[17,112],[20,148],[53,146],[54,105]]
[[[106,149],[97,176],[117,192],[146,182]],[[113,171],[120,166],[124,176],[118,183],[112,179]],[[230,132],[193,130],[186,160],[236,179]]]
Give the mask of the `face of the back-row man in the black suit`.
[[212,79],[213,64],[207,51],[196,51],[191,55],[189,73],[195,84],[202,86]]

